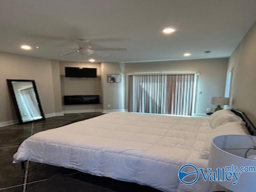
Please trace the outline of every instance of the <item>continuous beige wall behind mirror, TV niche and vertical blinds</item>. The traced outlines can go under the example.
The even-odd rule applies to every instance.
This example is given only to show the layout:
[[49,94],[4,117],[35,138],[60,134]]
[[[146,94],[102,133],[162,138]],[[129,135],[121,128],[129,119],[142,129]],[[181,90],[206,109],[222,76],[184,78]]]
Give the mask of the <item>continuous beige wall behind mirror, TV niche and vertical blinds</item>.
[[[232,59],[232,58],[231,58]],[[204,114],[212,96],[224,95],[228,59],[201,59],[144,63],[63,62],[0,52],[0,123],[16,119],[6,79],[36,80],[45,114],[123,110],[125,74],[134,72],[200,72],[196,113]],[[64,68],[97,68],[97,78],[66,78]],[[107,74],[121,74],[121,83],[108,83]],[[103,104],[64,106],[64,95],[99,94]],[[108,106],[110,105],[110,107]]]

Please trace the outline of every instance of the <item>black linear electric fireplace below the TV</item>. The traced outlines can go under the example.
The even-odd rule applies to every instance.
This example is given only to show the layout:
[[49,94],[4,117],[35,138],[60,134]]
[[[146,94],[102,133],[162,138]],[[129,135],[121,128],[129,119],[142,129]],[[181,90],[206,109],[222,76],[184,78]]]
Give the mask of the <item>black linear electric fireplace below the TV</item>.
[[68,95],[64,96],[64,105],[99,104],[99,95]]

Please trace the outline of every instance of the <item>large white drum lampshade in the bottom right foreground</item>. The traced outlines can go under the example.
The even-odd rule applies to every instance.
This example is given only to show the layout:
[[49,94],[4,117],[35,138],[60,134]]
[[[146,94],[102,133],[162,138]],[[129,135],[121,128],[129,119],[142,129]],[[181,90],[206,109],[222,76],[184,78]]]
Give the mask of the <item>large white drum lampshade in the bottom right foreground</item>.
[[[224,168],[226,166],[256,166],[256,161],[244,158],[244,154],[248,148],[251,148],[255,136],[248,135],[222,135],[212,140],[212,147],[210,150],[210,158],[208,167],[216,172],[217,168]],[[250,153],[254,153],[251,150]],[[252,156],[252,155],[251,155]],[[217,174],[217,172],[216,172]],[[242,172],[237,183],[232,184],[232,181],[217,181],[218,184],[234,192],[255,192],[256,191],[256,172]]]

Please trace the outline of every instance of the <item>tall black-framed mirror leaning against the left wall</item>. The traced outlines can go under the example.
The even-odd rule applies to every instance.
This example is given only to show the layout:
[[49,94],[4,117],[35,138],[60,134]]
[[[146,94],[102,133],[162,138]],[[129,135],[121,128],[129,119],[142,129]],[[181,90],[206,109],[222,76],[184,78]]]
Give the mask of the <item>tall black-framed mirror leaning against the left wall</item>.
[[7,79],[20,124],[44,120],[34,80]]

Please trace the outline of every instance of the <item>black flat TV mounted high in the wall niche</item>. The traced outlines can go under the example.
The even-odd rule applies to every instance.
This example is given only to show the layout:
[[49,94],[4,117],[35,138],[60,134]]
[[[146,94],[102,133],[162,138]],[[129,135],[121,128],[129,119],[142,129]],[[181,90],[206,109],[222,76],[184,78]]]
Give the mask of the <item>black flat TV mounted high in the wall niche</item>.
[[65,67],[66,77],[97,77],[96,68]]

